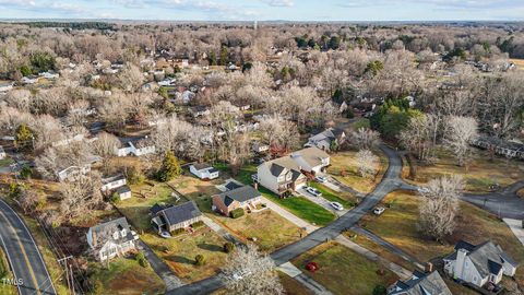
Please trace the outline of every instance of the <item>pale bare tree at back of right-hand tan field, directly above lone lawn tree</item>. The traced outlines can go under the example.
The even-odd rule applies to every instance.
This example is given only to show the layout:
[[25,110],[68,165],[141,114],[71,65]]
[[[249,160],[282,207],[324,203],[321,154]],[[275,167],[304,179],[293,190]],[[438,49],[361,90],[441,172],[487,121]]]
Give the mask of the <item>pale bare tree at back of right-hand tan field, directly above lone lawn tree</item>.
[[478,137],[477,120],[472,117],[448,117],[444,144],[453,152],[460,166],[467,165],[472,148],[469,143]]

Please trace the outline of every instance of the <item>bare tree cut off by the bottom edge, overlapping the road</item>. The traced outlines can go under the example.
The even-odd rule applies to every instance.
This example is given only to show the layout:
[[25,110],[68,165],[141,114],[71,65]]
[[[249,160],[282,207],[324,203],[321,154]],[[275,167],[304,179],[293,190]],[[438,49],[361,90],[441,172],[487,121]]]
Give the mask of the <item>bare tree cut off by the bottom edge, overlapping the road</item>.
[[230,294],[284,294],[275,263],[252,244],[229,255],[221,276]]

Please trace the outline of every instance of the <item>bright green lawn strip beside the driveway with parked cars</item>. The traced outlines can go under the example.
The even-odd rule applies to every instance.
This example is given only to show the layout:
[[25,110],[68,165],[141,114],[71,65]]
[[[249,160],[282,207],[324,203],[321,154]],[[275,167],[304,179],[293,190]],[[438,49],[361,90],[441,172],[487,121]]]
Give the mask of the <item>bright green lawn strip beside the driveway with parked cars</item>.
[[335,214],[303,197],[281,199],[265,188],[259,187],[259,191],[262,192],[265,198],[272,200],[273,202],[285,208],[287,211],[311,224],[324,226],[336,219]]

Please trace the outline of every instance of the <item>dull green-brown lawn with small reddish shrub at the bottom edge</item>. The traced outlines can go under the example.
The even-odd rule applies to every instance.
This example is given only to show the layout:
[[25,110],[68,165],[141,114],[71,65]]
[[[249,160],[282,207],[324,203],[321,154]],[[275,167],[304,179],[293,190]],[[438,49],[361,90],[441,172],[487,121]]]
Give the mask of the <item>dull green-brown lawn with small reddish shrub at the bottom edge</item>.
[[[306,270],[310,261],[315,262],[319,270]],[[386,287],[398,279],[380,263],[333,241],[317,246],[291,262],[333,294],[372,294],[377,285]]]

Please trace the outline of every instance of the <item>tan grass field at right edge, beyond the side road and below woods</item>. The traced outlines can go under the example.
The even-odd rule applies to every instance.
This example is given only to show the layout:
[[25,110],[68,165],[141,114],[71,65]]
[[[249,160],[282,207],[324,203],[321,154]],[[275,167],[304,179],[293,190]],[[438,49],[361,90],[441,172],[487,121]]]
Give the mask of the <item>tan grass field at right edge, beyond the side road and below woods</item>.
[[[516,180],[524,179],[524,163],[521,161],[510,161],[507,158],[495,157],[489,160],[488,152],[474,150],[474,157],[466,167],[456,165],[453,154],[444,149],[438,149],[437,160],[433,165],[416,164],[417,176],[413,181],[424,185],[430,179],[443,175],[458,174],[466,181],[466,190],[471,192],[487,192],[489,187],[499,184],[504,187]],[[408,167],[404,167],[403,175],[407,176]]]

